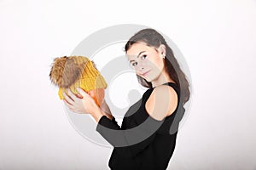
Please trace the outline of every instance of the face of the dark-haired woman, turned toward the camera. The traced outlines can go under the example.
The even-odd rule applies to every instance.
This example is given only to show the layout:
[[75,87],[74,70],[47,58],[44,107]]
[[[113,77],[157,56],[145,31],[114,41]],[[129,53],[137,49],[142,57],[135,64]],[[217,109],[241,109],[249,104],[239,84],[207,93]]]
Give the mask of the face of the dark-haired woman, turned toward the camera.
[[136,42],[126,52],[131,67],[135,69],[138,76],[148,82],[159,77],[164,68],[163,51],[159,49],[148,47],[144,42]]

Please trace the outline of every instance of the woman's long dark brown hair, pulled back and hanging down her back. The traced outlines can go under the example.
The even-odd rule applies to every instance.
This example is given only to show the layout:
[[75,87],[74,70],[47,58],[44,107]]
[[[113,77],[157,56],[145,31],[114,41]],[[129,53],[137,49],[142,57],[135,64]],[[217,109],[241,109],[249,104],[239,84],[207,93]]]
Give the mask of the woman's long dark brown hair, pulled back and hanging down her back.
[[[174,82],[177,83],[177,86],[180,89],[180,99],[182,105],[184,105],[190,96],[189,92],[189,82],[186,78],[186,75],[181,70],[177,59],[174,57],[172,49],[167,45],[164,37],[160,35],[159,32],[154,29],[147,28],[142,31],[138,31],[134,36],[132,36],[128,42],[125,44],[125,52],[131,48],[131,45],[136,42],[145,42],[149,47],[159,48],[161,44],[166,46],[166,59],[165,67],[168,75],[172,78]],[[147,82],[143,77],[137,75],[138,82],[145,88],[152,88],[152,83]]]

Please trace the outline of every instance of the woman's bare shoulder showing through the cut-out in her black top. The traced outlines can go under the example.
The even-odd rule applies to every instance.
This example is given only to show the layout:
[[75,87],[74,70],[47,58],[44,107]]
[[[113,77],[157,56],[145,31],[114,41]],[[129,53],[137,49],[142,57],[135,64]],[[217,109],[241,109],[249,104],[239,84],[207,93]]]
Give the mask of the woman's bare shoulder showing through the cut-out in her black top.
[[148,115],[155,120],[162,121],[166,116],[172,115],[177,108],[177,93],[168,85],[154,88],[146,104]]

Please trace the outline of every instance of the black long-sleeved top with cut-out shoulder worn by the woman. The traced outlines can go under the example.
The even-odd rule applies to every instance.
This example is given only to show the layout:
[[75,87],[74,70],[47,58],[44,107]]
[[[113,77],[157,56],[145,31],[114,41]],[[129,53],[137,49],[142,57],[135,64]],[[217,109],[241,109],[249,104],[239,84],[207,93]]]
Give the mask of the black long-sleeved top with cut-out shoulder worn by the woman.
[[166,82],[177,93],[178,104],[171,116],[157,121],[148,115],[145,104],[154,88],[148,88],[142,99],[125,113],[122,126],[114,117],[109,120],[102,116],[96,131],[114,146],[108,166],[112,170],[162,170],[166,169],[172,157],[177,138],[178,122],[184,108],[180,104],[177,84]]

